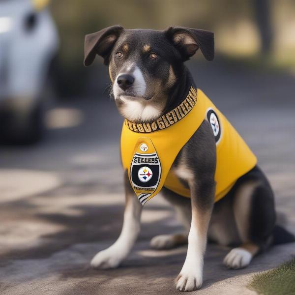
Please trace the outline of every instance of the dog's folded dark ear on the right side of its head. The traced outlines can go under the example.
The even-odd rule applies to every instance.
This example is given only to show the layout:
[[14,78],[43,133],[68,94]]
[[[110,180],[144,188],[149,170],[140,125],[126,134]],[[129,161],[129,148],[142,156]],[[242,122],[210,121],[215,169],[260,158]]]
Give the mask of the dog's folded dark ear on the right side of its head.
[[182,27],[170,27],[164,32],[180,52],[183,61],[193,56],[199,48],[207,60],[214,59],[213,32]]

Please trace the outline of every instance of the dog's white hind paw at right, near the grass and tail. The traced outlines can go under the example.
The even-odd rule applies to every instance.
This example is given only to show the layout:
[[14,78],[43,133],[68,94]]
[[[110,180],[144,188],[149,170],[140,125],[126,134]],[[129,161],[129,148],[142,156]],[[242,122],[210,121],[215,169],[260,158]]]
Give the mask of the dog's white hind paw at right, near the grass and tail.
[[224,258],[223,263],[229,268],[243,268],[249,265],[252,254],[243,248],[232,249]]

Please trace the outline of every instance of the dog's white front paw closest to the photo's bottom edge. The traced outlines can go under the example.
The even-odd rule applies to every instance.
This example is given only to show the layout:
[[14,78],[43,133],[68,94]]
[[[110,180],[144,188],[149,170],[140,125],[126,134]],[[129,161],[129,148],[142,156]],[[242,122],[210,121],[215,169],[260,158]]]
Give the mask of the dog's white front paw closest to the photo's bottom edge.
[[202,287],[202,275],[181,271],[177,276],[176,289],[180,292],[195,291]]

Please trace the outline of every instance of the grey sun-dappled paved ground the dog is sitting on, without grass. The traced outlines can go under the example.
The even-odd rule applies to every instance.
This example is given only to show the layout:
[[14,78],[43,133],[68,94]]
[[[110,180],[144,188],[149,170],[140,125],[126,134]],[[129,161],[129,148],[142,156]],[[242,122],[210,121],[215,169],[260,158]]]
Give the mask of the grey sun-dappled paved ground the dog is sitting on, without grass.
[[[194,67],[194,73],[257,154],[280,216],[295,233],[295,78],[234,66],[225,70],[222,63]],[[106,94],[57,107],[49,118],[52,126],[60,114],[80,125],[52,129],[38,146],[0,148],[0,294],[176,294],[173,280],[186,247],[148,247],[152,236],[179,230],[160,196],[145,207],[128,260],[116,270],[90,269],[92,256],[121,228],[121,118]],[[252,294],[245,285],[253,273],[295,255],[295,244],[273,247],[238,271],[222,266],[227,251],[208,246],[204,286],[193,294]]]

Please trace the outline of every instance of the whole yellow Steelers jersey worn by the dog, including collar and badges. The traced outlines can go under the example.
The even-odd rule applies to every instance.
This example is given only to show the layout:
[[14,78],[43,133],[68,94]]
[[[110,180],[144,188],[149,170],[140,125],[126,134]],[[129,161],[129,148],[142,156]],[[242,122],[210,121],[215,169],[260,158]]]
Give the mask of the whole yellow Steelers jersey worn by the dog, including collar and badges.
[[257,159],[241,136],[200,89],[190,88],[172,111],[151,123],[123,122],[121,159],[134,192],[142,205],[163,186],[190,197],[171,170],[180,151],[204,120],[212,127],[216,143],[215,202],[224,197],[236,180],[250,171]]

